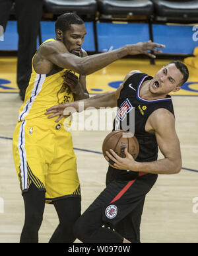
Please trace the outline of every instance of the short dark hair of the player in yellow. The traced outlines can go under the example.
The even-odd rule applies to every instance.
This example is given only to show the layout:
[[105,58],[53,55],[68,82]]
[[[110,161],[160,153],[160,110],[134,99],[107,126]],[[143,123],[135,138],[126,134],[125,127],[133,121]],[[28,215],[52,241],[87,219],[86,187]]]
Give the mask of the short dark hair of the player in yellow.
[[64,33],[71,28],[71,24],[84,24],[84,21],[76,13],[63,13],[57,17],[55,31],[60,29]]

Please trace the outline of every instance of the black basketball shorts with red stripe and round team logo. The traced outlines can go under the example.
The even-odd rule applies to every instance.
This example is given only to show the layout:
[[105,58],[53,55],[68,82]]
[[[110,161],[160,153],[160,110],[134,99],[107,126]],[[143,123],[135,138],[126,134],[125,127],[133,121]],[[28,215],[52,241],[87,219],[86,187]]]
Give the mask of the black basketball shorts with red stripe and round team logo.
[[[145,195],[150,191],[157,177],[158,175],[147,173],[133,181],[112,181],[84,214],[94,218],[93,212],[97,212],[97,215],[101,212],[101,224],[110,224],[110,226],[116,226],[118,222],[133,212],[137,218],[143,210],[140,204],[144,204]],[[136,209],[141,210],[139,212]]]

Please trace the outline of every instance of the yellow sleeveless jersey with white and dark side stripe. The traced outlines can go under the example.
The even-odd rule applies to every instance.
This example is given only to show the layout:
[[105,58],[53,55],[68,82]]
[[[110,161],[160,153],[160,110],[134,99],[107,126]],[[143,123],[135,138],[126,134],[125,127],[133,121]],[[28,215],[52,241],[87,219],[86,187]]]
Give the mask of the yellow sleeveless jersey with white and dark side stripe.
[[[44,43],[54,40],[48,39]],[[24,104],[19,110],[18,121],[33,118],[54,121],[57,117],[48,119],[48,116],[45,115],[46,109],[54,105],[74,101],[73,93],[67,93],[64,85],[63,75],[67,69],[57,67],[57,69],[51,70],[47,75],[38,74],[34,70],[33,60],[34,57],[32,58],[32,74],[26,89]],[[61,122],[63,121],[62,119]]]

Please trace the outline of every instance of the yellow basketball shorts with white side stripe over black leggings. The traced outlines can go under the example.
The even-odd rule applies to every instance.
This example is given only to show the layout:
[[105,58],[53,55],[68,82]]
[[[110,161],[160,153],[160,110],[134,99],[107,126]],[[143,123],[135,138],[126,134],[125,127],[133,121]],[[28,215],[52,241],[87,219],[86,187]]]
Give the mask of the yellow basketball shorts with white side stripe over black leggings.
[[36,118],[18,122],[13,136],[13,157],[22,192],[31,183],[46,191],[46,202],[81,197],[71,133],[63,124]]

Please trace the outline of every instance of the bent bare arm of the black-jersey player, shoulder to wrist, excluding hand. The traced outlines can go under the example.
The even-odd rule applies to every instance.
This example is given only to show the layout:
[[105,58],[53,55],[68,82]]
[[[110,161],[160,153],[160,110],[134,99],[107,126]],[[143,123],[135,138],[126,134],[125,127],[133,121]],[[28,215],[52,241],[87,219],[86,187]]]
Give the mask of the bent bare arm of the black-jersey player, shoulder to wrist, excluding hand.
[[137,167],[138,170],[157,174],[180,172],[182,168],[182,156],[173,114],[164,108],[160,108],[150,116],[149,124],[155,132],[158,147],[164,158],[148,163],[141,163]]

